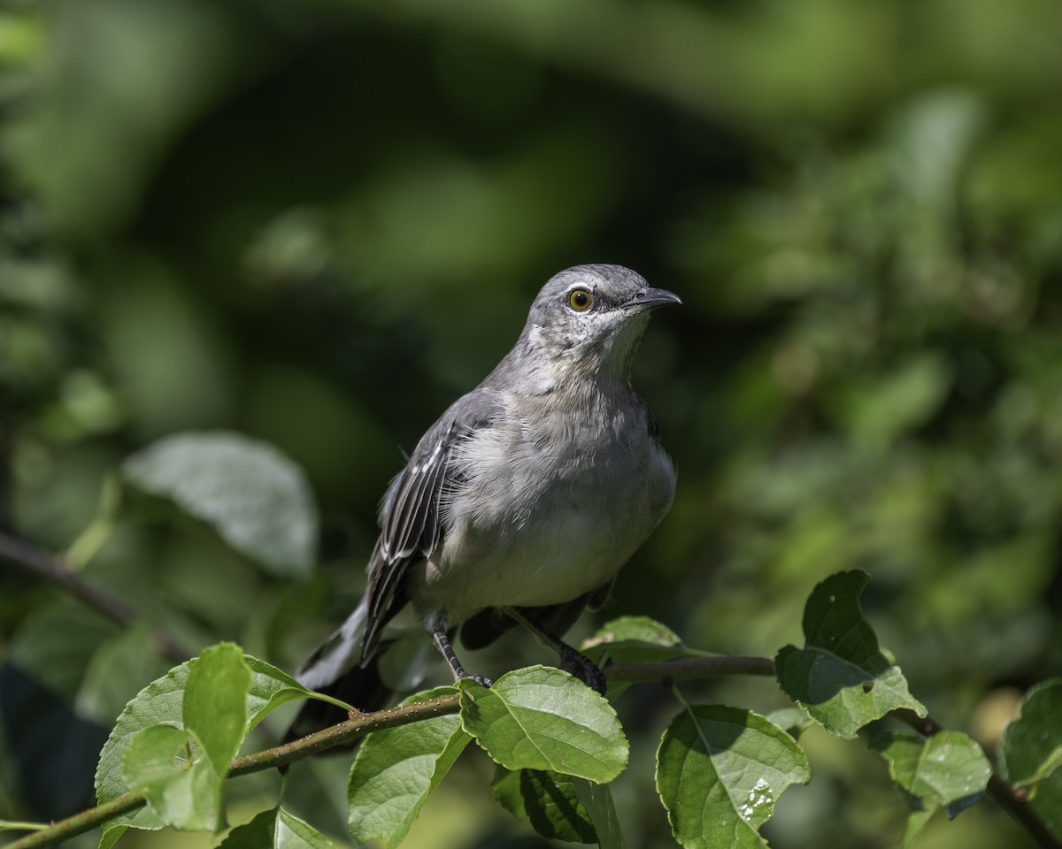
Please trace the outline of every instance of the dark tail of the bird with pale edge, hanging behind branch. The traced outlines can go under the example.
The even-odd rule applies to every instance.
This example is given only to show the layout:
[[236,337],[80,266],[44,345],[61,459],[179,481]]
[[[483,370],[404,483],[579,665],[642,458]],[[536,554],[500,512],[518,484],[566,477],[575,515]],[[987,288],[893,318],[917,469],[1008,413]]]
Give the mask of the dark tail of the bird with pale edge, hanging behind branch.
[[[295,677],[304,687],[342,699],[358,710],[379,710],[391,699],[392,689],[380,676],[379,648],[361,663],[369,608],[365,601],[327,640],[318,646]],[[346,720],[342,708],[315,698],[303,703],[284,735],[285,743]]]

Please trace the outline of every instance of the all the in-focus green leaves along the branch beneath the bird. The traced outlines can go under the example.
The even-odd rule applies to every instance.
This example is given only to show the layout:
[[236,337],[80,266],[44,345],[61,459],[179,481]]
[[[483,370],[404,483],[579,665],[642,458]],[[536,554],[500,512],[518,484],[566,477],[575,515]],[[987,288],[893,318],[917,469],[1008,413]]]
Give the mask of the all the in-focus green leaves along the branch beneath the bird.
[[[808,755],[793,734],[812,722],[842,739],[874,725],[870,748],[883,757],[910,809],[905,846],[938,810],[955,817],[984,795],[992,765],[966,734],[920,738],[877,725],[896,711],[925,717],[925,708],[907,693],[902,672],[862,617],[859,596],[867,579],[861,572],[838,573],[816,587],[805,609],[804,648],[786,646],[775,659],[780,687],[802,710],[766,717],[737,707],[690,705],[671,686],[679,710],[660,741],[656,790],[680,845],[766,846],[759,831],[777,799],[789,785],[811,780]],[[612,622],[590,642],[607,646],[606,663],[656,655],[651,662],[665,668],[665,679],[668,662],[688,654],[672,631],[645,618]],[[661,654],[666,659],[658,660]],[[1062,801],[1062,744],[1052,738],[1059,693],[1058,680],[1031,691],[1003,749],[1006,775],[1055,839],[1062,837],[1054,813]],[[416,721],[418,706],[458,694],[456,713]],[[129,828],[223,830],[226,780],[243,772],[233,761],[247,733],[276,707],[303,697],[322,696],[230,643],[149,685],[119,716],[100,755],[100,810],[135,795],[134,810],[106,819],[100,846],[109,849]],[[398,846],[475,741],[496,765],[495,796],[541,835],[626,845],[611,785],[628,766],[630,745],[611,701],[568,673],[532,666],[503,675],[490,689],[464,680],[410,696],[399,709],[408,709],[414,722],[370,732],[350,768],[348,827],[359,843],[381,838]],[[290,758],[298,747],[281,748]],[[271,763],[280,761],[261,760],[256,768]],[[41,835],[47,839],[48,831],[27,841]],[[223,843],[227,849],[266,845],[332,844],[279,803],[232,829]]]

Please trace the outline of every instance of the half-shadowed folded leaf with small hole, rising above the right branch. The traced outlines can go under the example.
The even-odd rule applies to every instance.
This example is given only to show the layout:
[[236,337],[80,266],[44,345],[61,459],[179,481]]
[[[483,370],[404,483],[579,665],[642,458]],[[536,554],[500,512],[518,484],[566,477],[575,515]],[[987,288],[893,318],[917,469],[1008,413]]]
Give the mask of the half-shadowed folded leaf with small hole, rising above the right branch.
[[891,710],[926,714],[863,618],[859,596],[868,579],[866,572],[838,572],[819,584],[804,608],[805,647],[787,645],[774,660],[785,693],[827,731],[850,740]]

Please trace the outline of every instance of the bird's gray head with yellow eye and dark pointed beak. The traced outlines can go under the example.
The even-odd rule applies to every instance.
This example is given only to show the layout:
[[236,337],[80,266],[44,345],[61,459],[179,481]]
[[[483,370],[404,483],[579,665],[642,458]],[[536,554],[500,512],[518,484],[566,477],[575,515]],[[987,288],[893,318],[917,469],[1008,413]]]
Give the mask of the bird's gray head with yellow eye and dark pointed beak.
[[681,302],[622,265],[576,265],[551,277],[535,297],[523,352],[563,371],[627,378],[649,313]]

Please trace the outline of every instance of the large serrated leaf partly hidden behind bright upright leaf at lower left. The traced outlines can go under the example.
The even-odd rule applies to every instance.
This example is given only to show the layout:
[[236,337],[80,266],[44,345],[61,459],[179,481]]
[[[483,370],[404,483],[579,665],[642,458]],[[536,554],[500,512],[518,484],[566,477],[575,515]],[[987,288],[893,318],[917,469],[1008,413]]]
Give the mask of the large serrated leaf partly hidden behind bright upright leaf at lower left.
[[[206,655],[209,651],[205,649],[203,654]],[[243,661],[251,671],[250,685],[244,696],[246,715],[244,732],[278,705],[292,698],[312,695],[293,678],[258,658],[243,655]],[[161,678],[143,688],[125,706],[100,752],[100,761],[96,768],[98,803],[103,804],[129,792],[121,775],[121,759],[125,746],[134,734],[158,723],[177,728],[185,727],[185,690],[192,662],[194,661],[174,666]],[[162,828],[162,822],[150,808],[141,808],[110,820],[105,835],[119,826],[157,830]]]

